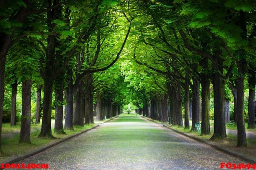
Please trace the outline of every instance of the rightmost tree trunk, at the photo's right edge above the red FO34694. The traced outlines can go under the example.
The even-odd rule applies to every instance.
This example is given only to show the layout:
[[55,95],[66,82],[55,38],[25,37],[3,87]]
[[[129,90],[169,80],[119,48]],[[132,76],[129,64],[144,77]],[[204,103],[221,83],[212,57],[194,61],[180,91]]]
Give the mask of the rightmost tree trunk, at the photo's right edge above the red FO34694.
[[253,64],[249,64],[249,98],[248,98],[248,129],[255,128],[255,85],[256,85],[256,67]]

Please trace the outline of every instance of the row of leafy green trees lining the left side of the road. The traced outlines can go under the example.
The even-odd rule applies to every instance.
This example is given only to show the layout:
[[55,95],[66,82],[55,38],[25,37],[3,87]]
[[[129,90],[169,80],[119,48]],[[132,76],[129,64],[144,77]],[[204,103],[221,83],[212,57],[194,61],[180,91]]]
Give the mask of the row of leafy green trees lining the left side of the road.
[[12,87],[11,125],[15,125],[17,88],[22,86],[20,142],[30,143],[32,87],[37,88],[36,122],[43,91],[39,137],[53,138],[52,108],[56,133],[93,123],[95,91],[98,105],[101,96],[112,95],[102,102],[109,107],[99,107],[110,110],[107,117],[115,116],[112,113],[120,111],[124,99],[122,92],[104,94],[105,86],[111,85],[104,80],[108,77],[104,71],[116,63],[125,47],[133,20],[129,8],[126,0],[1,1],[0,136],[6,85]]

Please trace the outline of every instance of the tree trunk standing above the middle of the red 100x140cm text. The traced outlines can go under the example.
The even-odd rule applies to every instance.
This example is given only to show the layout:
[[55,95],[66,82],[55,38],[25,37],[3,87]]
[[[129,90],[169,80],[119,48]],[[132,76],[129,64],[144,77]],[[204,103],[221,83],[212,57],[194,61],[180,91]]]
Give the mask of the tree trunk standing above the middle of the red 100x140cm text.
[[31,116],[31,79],[22,83],[22,115],[20,124],[20,143],[30,143],[30,116]]

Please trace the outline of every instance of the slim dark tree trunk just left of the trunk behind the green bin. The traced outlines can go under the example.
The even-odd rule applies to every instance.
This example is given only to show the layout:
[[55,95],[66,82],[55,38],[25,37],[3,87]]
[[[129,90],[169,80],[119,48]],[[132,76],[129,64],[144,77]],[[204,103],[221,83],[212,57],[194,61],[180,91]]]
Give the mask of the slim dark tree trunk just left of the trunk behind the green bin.
[[184,110],[185,110],[185,129],[189,129],[189,85],[185,85],[184,94]]

